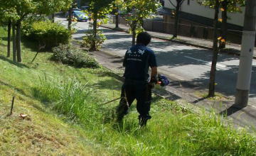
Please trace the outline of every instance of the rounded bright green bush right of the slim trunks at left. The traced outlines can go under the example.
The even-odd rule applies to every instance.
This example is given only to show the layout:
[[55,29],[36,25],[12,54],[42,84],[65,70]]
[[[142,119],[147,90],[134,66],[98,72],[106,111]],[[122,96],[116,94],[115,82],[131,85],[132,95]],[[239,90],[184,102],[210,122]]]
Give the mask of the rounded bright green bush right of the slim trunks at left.
[[38,43],[46,44],[46,49],[51,49],[58,44],[69,43],[71,33],[68,29],[58,23],[50,21],[37,21],[26,23],[23,28],[23,34],[31,40],[37,40]]

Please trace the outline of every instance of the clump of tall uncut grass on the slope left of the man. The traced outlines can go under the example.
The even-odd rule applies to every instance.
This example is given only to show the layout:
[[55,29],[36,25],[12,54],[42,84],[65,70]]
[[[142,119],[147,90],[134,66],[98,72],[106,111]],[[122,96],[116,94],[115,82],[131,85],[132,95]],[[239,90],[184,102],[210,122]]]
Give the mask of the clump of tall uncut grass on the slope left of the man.
[[51,106],[66,118],[82,123],[93,123],[99,118],[97,109],[97,90],[90,84],[81,84],[73,79],[40,78],[41,87],[33,89],[34,96],[45,104],[53,102]]

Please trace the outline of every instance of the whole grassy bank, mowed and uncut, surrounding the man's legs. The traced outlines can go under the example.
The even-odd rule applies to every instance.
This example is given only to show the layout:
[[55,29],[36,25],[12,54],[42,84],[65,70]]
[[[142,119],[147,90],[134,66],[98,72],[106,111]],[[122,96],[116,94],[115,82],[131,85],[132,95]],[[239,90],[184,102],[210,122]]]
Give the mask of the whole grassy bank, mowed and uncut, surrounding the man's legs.
[[[48,52],[30,64],[35,43],[26,43],[23,64],[14,64],[3,56],[6,41],[0,44],[1,155],[256,155],[254,133],[157,96],[146,128],[138,126],[135,104],[116,123],[118,101],[102,104],[119,97],[122,83],[106,69],[59,65]],[[12,96],[14,115],[6,117]]]

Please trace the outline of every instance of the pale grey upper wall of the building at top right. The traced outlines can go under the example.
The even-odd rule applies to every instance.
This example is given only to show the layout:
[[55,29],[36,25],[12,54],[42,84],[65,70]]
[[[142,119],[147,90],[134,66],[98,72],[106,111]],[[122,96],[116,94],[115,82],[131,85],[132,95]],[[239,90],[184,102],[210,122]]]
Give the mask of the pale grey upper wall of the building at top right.
[[[176,1],[173,1],[174,5],[176,5]],[[186,13],[191,13],[198,16],[203,16],[206,18],[214,18],[214,9],[210,9],[206,6],[201,6],[198,4],[196,0],[189,0],[190,3],[188,5],[188,0],[185,0],[181,5],[181,11]],[[171,5],[169,0],[165,0],[164,7],[169,9],[175,9],[174,6]],[[243,26],[244,16],[245,16],[245,7],[242,7],[242,13],[228,13],[228,23],[235,24],[238,26]],[[221,11],[219,14],[221,18]]]

